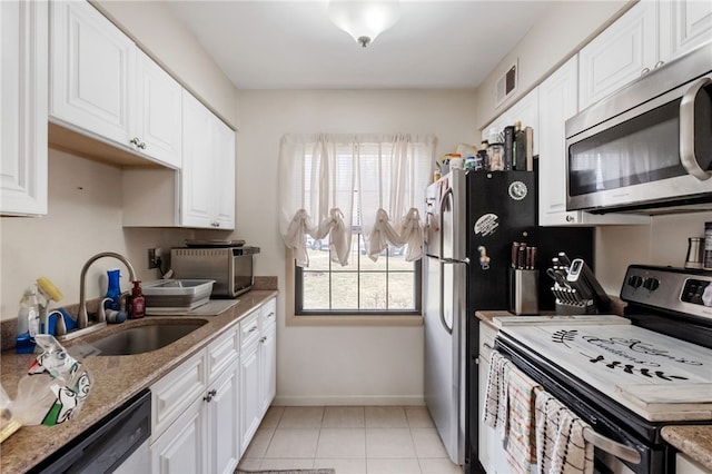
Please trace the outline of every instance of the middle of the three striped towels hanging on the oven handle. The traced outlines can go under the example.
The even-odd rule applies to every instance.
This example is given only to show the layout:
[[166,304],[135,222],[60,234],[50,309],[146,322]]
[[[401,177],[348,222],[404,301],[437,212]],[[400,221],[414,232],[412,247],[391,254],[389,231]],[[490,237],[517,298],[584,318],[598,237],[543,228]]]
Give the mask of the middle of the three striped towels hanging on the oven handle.
[[507,464],[513,474],[528,474],[536,464],[535,392],[542,386],[518,368],[511,366],[508,376]]

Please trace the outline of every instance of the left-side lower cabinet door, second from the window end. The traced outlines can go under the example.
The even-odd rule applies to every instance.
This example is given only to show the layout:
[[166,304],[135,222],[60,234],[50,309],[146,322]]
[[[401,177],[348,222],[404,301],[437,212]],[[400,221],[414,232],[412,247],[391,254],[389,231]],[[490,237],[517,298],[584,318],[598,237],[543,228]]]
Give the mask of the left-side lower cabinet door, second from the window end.
[[258,344],[249,346],[240,354],[240,436],[241,450],[245,452],[261,417],[259,398],[260,383]]

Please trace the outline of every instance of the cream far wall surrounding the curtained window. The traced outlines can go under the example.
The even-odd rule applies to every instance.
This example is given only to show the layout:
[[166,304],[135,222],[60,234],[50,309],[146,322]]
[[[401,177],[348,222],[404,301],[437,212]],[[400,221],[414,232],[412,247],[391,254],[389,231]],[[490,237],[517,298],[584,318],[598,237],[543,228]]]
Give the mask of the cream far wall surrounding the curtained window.
[[261,247],[259,275],[277,275],[277,403],[423,403],[423,327],[285,326],[285,247],[278,234],[277,157],[286,132],[434,132],[437,155],[475,140],[473,91],[243,91],[236,237]]

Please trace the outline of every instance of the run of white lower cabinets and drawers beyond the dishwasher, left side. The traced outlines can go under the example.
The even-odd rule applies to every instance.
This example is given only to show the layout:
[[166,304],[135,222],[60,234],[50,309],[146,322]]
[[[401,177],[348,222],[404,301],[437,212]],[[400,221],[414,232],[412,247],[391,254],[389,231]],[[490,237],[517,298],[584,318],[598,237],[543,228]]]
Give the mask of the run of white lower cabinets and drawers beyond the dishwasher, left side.
[[235,471],[276,393],[276,299],[151,386],[151,472]]

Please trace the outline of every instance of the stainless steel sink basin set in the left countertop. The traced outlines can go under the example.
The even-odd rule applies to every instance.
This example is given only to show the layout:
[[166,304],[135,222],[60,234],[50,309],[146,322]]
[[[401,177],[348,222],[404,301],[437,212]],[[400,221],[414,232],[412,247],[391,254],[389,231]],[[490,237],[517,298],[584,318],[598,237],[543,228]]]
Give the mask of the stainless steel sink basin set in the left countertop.
[[91,345],[100,350],[100,354],[97,354],[100,356],[142,354],[175,343],[206,323],[205,320],[194,320],[130,327],[102,337]]

